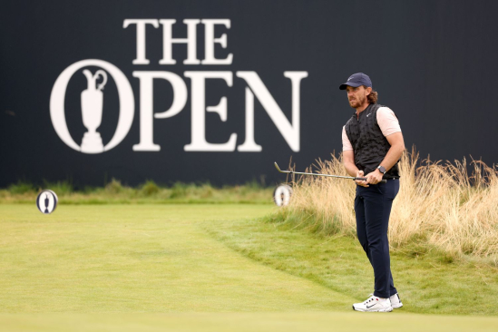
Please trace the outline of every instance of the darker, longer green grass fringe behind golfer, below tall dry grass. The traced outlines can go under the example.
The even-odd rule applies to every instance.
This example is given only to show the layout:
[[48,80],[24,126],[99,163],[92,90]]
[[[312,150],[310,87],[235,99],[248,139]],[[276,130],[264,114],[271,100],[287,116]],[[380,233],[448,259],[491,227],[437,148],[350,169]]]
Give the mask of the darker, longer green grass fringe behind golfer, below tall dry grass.
[[[211,221],[204,227],[215,239],[250,259],[313,280],[356,302],[374,290],[374,272],[352,237],[313,234],[297,229],[293,222],[264,219]],[[407,246],[391,253],[391,269],[405,305],[395,314],[498,315],[494,304],[498,269],[490,265],[455,261],[441,251]]]

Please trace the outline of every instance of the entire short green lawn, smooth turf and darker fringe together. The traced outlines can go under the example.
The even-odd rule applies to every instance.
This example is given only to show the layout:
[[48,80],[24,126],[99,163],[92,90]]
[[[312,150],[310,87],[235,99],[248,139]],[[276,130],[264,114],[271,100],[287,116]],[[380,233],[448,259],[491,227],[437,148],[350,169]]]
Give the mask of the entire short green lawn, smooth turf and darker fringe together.
[[[373,274],[354,239],[264,222],[269,205],[0,205],[0,327],[25,331],[496,330],[496,269],[396,252],[405,308],[351,303]],[[420,299],[423,299],[421,301]],[[426,315],[473,315],[465,317]],[[483,315],[493,317],[483,317]]]

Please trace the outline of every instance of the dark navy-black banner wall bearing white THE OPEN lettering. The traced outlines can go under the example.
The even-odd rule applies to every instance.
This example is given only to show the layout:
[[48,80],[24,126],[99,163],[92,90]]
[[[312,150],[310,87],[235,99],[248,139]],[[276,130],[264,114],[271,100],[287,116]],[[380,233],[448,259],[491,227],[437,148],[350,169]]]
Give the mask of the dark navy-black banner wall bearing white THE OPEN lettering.
[[5,1],[0,187],[283,181],[367,73],[405,144],[498,161],[493,1]]

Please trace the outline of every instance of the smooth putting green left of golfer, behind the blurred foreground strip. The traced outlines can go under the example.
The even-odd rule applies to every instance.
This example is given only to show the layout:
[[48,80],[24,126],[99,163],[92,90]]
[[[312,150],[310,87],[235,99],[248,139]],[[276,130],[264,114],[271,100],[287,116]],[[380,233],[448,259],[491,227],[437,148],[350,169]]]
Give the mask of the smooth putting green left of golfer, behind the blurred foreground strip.
[[244,258],[198,227],[268,206],[0,205],[4,312],[347,309],[351,298]]

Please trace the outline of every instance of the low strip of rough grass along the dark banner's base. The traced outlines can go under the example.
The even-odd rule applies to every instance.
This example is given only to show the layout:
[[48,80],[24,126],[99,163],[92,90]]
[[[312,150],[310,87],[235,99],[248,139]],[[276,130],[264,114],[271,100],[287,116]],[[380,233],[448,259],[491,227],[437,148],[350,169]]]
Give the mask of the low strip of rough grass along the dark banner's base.
[[71,181],[48,182],[35,186],[27,181],[18,181],[8,188],[0,189],[0,203],[33,204],[36,195],[43,189],[54,190],[62,204],[122,204],[122,203],[249,203],[271,204],[273,188],[253,181],[243,185],[215,187],[210,183],[181,183],[160,186],[154,181],[145,181],[132,188],[112,179],[103,188],[74,189]]

